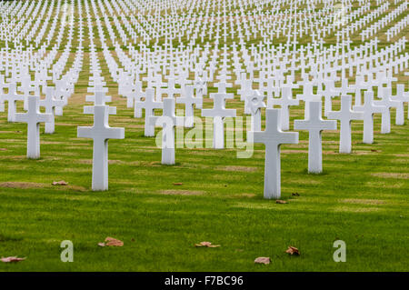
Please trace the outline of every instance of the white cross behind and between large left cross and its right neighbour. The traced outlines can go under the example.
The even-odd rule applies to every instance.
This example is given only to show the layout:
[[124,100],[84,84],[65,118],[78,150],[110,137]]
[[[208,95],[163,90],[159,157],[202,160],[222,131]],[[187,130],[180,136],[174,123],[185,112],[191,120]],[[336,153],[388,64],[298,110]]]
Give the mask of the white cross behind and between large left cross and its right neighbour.
[[[145,136],[155,136],[155,124],[151,123],[150,117],[155,115],[155,109],[162,109],[164,107],[163,102],[155,101],[155,89],[147,88],[145,90],[145,101],[135,102],[135,114],[142,108],[145,109]],[[136,117],[136,115],[135,115]]]

